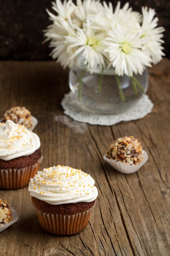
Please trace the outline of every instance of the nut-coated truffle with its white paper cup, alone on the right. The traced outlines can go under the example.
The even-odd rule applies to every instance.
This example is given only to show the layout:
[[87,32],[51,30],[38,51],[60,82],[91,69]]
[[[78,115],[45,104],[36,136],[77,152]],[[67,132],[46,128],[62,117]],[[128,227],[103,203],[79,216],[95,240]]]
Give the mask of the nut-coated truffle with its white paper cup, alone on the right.
[[104,159],[121,173],[134,173],[148,160],[148,154],[138,139],[125,136],[113,141]]

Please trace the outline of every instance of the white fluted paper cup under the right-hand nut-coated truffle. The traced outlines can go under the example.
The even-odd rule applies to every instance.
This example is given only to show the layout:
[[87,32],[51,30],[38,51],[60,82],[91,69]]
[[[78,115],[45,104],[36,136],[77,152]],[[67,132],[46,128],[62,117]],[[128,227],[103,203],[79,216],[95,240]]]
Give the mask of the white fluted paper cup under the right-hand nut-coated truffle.
[[106,155],[104,155],[103,158],[104,160],[106,160],[106,162],[108,162],[111,166],[113,166],[113,168],[115,168],[120,173],[130,174],[138,171],[139,168],[141,168],[141,166],[145,164],[146,161],[148,160],[148,154],[146,153],[145,150],[142,150],[142,151],[143,151],[143,160],[140,164],[130,165],[130,164],[121,163],[120,161],[116,162],[116,160],[114,159],[107,158]]

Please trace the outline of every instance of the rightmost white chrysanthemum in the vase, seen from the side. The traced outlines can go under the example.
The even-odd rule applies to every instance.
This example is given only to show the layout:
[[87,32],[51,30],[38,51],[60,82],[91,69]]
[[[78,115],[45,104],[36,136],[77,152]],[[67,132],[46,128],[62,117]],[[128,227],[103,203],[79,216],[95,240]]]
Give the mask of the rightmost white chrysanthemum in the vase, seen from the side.
[[146,38],[146,43],[142,49],[150,54],[154,64],[161,61],[162,56],[165,54],[162,52],[164,49],[161,43],[164,43],[161,39],[163,37],[163,27],[157,27],[158,18],[154,18],[155,10],[142,7],[143,21],[141,24],[141,30],[143,37]]

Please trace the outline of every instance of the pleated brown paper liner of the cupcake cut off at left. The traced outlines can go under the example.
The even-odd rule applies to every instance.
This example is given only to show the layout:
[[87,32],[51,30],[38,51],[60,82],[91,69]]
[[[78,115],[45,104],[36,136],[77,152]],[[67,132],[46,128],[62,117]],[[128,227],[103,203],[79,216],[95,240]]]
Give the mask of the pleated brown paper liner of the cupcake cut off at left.
[[0,169],[0,189],[13,190],[26,187],[38,172],[42,159],[43,157],[40,157],[35,164],[24,168]]

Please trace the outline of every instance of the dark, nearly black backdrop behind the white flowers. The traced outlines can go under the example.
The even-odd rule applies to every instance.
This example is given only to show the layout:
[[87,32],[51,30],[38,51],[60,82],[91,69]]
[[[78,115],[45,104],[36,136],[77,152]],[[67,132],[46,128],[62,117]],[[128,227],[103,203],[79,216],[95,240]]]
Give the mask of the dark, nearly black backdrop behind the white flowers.
[[[51,23],[46,8],[51,0],[0,0],[0,60],[51,60],[51,49],[44,40],[43,30]],[[106,0],[106,2],[108,2]],[[113,0],[113,6],[117,1]],[[127,1],[122,0],[121,6]],[[159,26],[165,27],[165,54],[170,58],[170,0],[130,0],[134,11],[141,6],[157,12]]]

